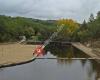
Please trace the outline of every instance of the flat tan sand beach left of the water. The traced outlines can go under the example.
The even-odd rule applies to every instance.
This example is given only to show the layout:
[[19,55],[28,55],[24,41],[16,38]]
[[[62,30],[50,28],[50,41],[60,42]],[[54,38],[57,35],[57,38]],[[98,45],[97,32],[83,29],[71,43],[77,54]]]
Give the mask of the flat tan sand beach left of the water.
[[24,44],[0,44],[0,65],[30,60],[35,47]]

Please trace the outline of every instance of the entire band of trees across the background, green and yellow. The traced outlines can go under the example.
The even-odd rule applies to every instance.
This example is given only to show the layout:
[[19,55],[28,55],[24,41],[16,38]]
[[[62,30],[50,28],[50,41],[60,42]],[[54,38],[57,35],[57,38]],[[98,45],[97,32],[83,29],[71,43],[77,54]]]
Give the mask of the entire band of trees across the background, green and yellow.
[[27,39],[37,36],[38,40],[46,40],[57,30],[57,25],[62,24],[64,28],[54,40],[88,42],[100,39],[99,11],[96,17],[91,14],[82,24],[72,19],[38,20],[0,15],[0,42],[18,41],[20,36]]

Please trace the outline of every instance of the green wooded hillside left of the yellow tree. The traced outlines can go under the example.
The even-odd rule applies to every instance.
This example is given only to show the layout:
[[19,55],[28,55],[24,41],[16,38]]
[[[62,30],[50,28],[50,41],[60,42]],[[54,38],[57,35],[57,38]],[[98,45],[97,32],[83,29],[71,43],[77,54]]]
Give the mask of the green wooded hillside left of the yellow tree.
[[0,42],[15,42],[20,40],[20,36],[30,39],[39,34],[40,40],[44,40],[50,34],[49,32],[52,32],[51,29],[54,28],[55,23],[52,20],[0,15]]

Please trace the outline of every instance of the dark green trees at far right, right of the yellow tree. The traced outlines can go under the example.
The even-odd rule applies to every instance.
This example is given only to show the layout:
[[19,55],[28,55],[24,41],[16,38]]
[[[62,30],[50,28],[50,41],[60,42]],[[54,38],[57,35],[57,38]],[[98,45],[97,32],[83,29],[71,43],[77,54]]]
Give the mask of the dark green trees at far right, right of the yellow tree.
[[81,42],[93,42],[100,39],[100,11],[96,17],[91,14],[87,22],[84,20],[83,23],[80,24],[76,38]]

